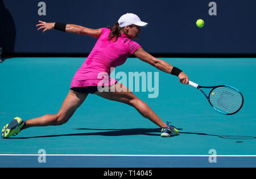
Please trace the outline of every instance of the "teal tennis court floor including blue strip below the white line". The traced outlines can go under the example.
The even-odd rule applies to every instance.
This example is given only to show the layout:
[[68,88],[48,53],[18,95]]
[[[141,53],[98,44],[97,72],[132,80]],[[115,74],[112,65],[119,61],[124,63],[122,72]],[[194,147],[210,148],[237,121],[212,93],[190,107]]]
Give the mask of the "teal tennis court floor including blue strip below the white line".
[[[14,117],[57,113],[85,59],[7,58],[0,63],[1,129]],[[115,79],[125,82],[120,74],[127,74],[129,85],[129,72],[147,74],[138,92],[128,87],[180,135],[162,138],[159,127],[131,106],[89,95],[64,125],[32,127],[0,139],[0,167],[256,167],[256,59],[161,59],[202,86],[238,88],[243,108],[232,116],[218,113],[199,90],[129,58],[115,69]],[[142,91],[149,79],[151,88]]]

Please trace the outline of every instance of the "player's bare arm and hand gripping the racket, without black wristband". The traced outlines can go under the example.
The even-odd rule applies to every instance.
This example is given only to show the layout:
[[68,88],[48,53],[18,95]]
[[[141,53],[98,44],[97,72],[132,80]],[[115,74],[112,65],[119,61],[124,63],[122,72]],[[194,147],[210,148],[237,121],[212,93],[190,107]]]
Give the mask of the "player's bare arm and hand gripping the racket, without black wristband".
[[[134,55],[139,59],[141,59],[142,61],[147,62],[152,66],[155,66],[161,71],[164,71],[169,74],[174,74],[174,71],[173,71],[175,69],[174,66],[171,66],[169,63],[167,63],[166,61],[163,61],[162,59],[158,59],[151,56],[151,54],[147,53],[142,48],[139,48],[138,50],[136,50],[134,52]],[[188,76],[183,71],[177,74],[177,76],[180,79],[180,83],[188,84],[189,82]]]

